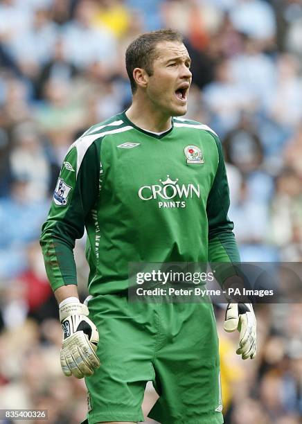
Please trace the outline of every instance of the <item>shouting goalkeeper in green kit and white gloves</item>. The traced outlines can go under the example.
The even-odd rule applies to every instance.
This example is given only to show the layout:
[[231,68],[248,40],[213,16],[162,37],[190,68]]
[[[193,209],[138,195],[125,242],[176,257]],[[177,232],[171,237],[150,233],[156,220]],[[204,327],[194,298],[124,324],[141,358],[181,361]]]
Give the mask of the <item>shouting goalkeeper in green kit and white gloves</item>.
[[[129,263],[239,259],[220,141],[206,125],[172,118],[186,114],[192,80],[179,33],[141,35],[126,67],[132,105],[71,145],[42,231],[64,330],[62,369],[86,377],[89,424],[143,421],[148,380],[159,394],[149,415],[160,423],[222,423],[211,303],[127,299]],[[85,227],[89,318],[73,259]],[[239,312],[229,306],[227,330],[241,326],[238,353],[253,357],[254,313]]]

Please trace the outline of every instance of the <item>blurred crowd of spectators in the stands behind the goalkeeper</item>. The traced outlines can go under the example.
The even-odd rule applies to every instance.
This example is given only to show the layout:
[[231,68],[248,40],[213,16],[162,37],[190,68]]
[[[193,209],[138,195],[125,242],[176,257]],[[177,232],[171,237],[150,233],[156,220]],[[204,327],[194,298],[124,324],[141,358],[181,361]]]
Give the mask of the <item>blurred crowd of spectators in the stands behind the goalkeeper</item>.
[[[125,47],[163,27],[193,59],[188,116],[222,139],[242,260],[302,258],[301,0],[1,0],[0,408],[85,416],[84,383],[60,370],[37,240],[69,145],[130,104]],[[83,240],[75,256],[85,297]],[[226,423],[301,423],[302,305],[256,310],[250,362],[216,308]]]

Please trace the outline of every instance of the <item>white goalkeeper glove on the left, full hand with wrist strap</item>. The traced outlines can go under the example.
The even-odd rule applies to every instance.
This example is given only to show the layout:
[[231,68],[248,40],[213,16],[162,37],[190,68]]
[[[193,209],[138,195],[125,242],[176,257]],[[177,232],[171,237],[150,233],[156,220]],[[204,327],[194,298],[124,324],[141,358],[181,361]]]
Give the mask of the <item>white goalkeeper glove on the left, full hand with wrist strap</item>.
[[96,356],[98,329],[88,315],[87,306],[76,298],[69,298],[60,303],[63,330],[60,361],[65,376],[91,376],[94,369],[100,366]]

